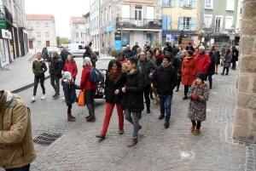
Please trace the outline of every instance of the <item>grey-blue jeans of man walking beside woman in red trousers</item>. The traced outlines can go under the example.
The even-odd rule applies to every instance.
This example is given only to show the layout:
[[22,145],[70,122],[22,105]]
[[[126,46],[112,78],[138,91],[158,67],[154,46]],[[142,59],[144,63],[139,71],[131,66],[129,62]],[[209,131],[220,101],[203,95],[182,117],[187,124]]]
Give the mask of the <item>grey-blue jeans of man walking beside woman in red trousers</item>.
[[138,117],[139,117],[140,112],[132,112],[132,117],[131,117],[131,111],[129,111],[126,108],[124,113],[125,113],[125,119],[129,123],[133,124],[132,138],[136,138],[137,137],[137,133],[138,133],[138,129],[139,129]]

